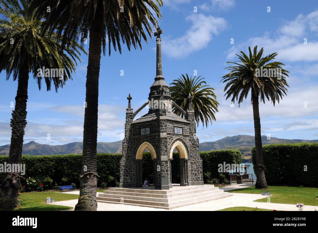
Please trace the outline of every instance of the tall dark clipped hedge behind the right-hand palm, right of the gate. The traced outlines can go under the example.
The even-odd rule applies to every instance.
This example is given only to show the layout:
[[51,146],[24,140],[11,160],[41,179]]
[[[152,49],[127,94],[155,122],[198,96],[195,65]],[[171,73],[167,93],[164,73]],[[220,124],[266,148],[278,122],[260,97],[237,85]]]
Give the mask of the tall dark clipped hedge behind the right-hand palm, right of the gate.
[[[256,174],[256,153],[252,148]],[[263,146],[267,184],[318,186],[318,143],[271,144]],[[307,166],[307,171],[304,171]]]

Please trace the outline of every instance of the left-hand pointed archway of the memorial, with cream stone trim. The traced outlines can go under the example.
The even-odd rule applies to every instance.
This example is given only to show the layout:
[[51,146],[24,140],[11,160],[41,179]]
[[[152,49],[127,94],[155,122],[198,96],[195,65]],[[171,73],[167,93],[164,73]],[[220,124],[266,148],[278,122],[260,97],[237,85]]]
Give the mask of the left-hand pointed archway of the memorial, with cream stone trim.
[[142,156],[144,151],[148,149],[150,154],[151,154],[151,159],[152,159],[152,166],[153,166],[153,183],[157,184],[157,155],[156,155],[156,149],[151,145],[150,142],[143,142],[137,149],[136,152],[136,163],[135,163],[135,168],[136,168],[136,187],[142,187],[143,186],[143,177],[142,174]]

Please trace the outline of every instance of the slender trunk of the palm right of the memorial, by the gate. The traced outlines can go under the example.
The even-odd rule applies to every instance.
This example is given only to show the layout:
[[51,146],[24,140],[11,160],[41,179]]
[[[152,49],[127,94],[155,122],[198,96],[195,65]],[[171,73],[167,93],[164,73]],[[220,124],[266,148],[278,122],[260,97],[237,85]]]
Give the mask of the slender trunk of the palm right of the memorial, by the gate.
[[262,153],[262,138],[260,131],[260,118],[259,118],[259,98],[255,96],[252,90],[252,106],[254,117],[254,130],[255,130],[255,149],[256,149],[256,184],[255,188],[267,188],[267,182],[265,178],[265,167],[263,162]]

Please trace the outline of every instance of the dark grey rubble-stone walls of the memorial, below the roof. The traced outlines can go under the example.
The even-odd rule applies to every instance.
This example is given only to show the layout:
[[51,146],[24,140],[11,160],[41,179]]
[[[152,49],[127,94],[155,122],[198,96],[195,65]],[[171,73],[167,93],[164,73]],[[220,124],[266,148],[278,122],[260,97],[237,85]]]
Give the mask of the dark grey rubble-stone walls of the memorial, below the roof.
[[[160,120],[132,123],[133,113],[126,111],[125,138],[122,144],[123,158],[120,164],[120,186],[135,187],[136,154],[140,145],[147,141],[156,151],[156,164],[160,170],[154,168],[157,175],[157,188],[169,189],[170,178],[170,152],[172,145],[179,141],[186,148],[187,158],[185,163],[186,185],[203,185],[203,165],[199,154],[199,139],[196,134],[194,112],[187,111],[188,122],[167,120],[165,110],[160,110]],[[142,128],[150,128],[150,133],[141,135]],[[183,128],[183,134],[175,134],[174,127]],[[142,177],[143,179],[144,177]],[[139,181],[140,182],[140,181]]]

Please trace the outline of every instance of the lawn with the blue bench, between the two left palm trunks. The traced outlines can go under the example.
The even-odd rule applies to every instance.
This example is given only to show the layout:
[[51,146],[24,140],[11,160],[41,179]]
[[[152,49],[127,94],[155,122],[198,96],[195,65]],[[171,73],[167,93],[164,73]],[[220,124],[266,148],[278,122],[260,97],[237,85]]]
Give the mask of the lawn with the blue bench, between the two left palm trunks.
[[17,211],[56,211],[56,210],[66,210],[73,209],[68,206],[59,205],[49,205],[45,204],[46,198],[53,198],[56,202],[67,201],[72,199],[78,199],[77,194],[63,194],[58,193],[58,191],[43,191],[43,192],[29,192],[22,193],[19,196],[21,209],[16,209]]

